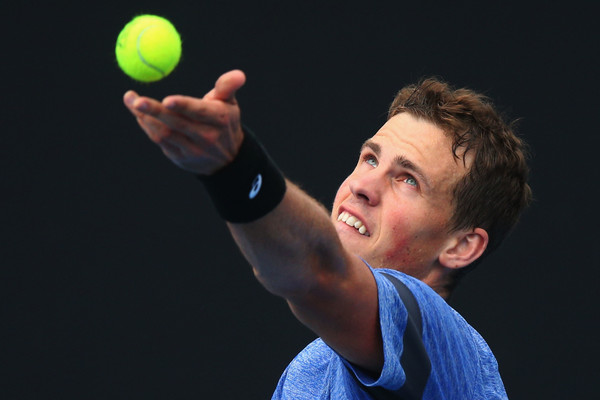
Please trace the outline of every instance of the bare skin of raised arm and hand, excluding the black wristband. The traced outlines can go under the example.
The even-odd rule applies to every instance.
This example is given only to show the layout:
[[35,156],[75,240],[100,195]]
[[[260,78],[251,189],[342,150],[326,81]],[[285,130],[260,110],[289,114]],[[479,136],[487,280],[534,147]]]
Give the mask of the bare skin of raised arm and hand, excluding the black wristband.
[[[158,102],[127,92],[124,101],[176,165],[211,175],[235,159],[242,143],[235,92],[244,82],[241,71],[231,71],[202,99],[169,96]],[[287,182],[275,209],[228,227],[257,279],[285,298],[299,320],[350,362],[381,369],[375,280],[344,249],[322,205]]]

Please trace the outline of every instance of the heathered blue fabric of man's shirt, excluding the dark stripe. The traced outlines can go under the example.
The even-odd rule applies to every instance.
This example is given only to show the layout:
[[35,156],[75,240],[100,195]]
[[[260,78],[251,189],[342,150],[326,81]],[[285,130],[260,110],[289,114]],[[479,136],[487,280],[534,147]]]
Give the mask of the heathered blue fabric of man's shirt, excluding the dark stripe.
[[357,383],[397,390],[405,382],[400,363],[407,311],[394,285],[382,272],[400,279],[421,309],[423,343],[431,374],[423,399],[507,399],[490,348],[452,307],[425,283],[388,269],[371,269],[377,282],[384,365],[369,376],[351,365],[321,339],[294,358],[279,380],[273,399],[371,399]]

